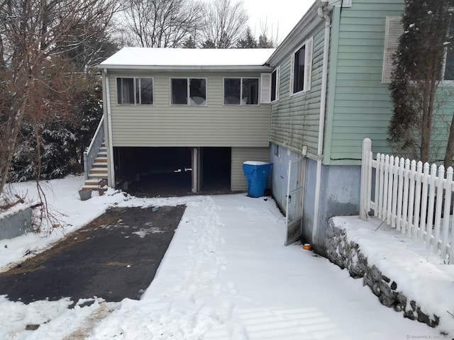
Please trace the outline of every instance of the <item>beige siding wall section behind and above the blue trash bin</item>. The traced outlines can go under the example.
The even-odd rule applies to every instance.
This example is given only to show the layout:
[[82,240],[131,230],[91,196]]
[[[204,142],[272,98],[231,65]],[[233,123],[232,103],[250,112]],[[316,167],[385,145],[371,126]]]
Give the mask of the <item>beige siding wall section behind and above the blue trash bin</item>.
[[232,147],[232,191],[248,189],[248,182],[243,173],[243,162],[246,161],[270,162],[270,149],[268,147]]

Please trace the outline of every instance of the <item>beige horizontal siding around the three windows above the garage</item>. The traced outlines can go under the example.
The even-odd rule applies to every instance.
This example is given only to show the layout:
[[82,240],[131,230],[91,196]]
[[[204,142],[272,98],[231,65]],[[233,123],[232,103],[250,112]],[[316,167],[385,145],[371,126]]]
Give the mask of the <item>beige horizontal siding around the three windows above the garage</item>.
[[[153,77],[153,106],[116,104],[110,91],[114,147],[267,147],[270,104],[223,105],[223,72],[111,71],[116,77]],[[228,73],[230,77],[258,78],[260,72]],[[207,106],[170,104],[170,78],[205,78]]]

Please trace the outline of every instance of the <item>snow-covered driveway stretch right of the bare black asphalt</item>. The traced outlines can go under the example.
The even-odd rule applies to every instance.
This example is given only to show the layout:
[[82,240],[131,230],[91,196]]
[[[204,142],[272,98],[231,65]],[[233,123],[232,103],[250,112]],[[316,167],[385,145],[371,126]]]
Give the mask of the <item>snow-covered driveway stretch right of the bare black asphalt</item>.
[[188,198],[140,301],[125,300],[89,339],[409,339],[425,324],[380,305],[362,280],[284,246],[273,200]]

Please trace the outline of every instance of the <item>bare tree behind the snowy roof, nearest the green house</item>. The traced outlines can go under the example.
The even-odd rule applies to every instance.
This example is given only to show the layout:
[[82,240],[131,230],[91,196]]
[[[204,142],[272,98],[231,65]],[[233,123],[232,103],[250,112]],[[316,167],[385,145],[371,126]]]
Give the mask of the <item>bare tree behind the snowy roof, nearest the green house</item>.
[[243,2],[213,0],[206,4],[202,37],[205,47],[231,48],[248,29],[248,13]]

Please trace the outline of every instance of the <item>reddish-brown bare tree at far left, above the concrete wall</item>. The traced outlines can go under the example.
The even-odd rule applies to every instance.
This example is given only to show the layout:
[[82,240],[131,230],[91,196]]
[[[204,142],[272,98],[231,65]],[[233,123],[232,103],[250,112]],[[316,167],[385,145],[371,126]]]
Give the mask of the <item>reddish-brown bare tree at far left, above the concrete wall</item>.
[[[1,4],[0,193],[9,179],[23,122],[39,125],[48,113],[70,111],[68,94],[77,76],[67,55],[105,30],[116,9],[114,0],[6,0]],[[98,29],[88,30],[93,23]],[[35,138],[39,143],[40,136]]]

